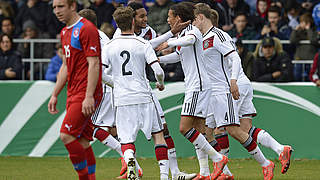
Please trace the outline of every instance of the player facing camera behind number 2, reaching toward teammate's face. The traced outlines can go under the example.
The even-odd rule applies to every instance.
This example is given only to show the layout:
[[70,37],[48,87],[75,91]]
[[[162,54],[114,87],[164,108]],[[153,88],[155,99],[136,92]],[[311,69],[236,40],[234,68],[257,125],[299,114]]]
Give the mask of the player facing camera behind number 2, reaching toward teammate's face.
[[[172,37],[177,32],[181,31],[184,27],[186,27],[189,23],[180,23],[175,24],[170,31],[163,34],[160,37],[156,37],[156,32],[147,25],[147,11],[143,7],[141,3],[138,2],[130,2],[128,4],[128,7],[131,7],[134,10],[134,33],[136,36],[142,37],[145,40],[150,41],[153,48],[157,47],[161,42],[166,41],[170,37]],[[118,37],[121,34],[121,30],[117,28],[115,34],[113,37]],[[149,83],[149,82],[148,82]],[[150,86],[149,86],[150,87]],[[150,87],[151,90],[151,87]],[[173,180],[178,179],[192,179],[196,176],[196,174],[191,173],[187,174],[184,172],[181,172],[178,167],[177,157],[176,157],[176,150],[175,145],[172,137],[170,136],[169,129],[167,127],[167,123],[165,120],[164,112],[162,110],[162,107],[160,105],[160,102],[156,95],[152,93],[153,100],[156,104],[157,110],[159,112],[159,115],[162,120],[162,124],[164,127],[163,133],[165,137],[166,144],[168,146],[168,157],[169,157],[169,167],[172,175]],[[126,174],[123,175],[123,177],[126,177]]]

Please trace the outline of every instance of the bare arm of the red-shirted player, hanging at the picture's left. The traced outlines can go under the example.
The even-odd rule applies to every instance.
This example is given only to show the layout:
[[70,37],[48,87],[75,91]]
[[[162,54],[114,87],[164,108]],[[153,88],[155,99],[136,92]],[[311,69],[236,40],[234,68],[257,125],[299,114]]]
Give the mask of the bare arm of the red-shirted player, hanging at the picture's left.
[[56,109],[57,97],[67,82],[67,76],[68,76],[68,69],[67,69],[66,57],[63,56],[62,65],[60,67],[58,77],[57,77],[57,82],[48,103],[48,111],[50,114],[57,114],[59,112]]

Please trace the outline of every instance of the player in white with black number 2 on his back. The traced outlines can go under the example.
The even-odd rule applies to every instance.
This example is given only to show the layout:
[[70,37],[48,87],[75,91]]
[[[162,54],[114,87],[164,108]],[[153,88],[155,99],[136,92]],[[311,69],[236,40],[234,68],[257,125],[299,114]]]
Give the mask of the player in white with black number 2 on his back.
[[[155,154],[160,167],[160,179],[168,179],[168,147],[163,137],[161,118],[153,101],[146,79],[145,64],[155,72],[157,88],[164,89],[164,73],[151,44],[134,35],[134,11],[118,8],[113,17],[121,35],[103,47],[102,56],[111,67],[116,107],[116,126],[124,159],[127,178],[136,179],[135,145],[139,130],[155,143]],[[106,82],[110,82],[106,80]]]

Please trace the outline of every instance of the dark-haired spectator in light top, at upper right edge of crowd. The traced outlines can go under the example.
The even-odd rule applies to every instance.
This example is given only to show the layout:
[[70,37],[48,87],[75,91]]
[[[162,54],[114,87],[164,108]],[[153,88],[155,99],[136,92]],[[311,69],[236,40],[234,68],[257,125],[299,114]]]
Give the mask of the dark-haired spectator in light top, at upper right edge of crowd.
[[284,9],[289,19],[289,27],[295,29],[299,25],[300,4],[296,0],[287,0]]

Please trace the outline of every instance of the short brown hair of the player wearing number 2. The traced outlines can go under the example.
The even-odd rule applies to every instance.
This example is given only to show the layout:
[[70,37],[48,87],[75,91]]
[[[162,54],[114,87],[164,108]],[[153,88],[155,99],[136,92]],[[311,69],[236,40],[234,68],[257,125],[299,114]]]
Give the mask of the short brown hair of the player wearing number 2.
[[113,13],[113,19],[121,31],[127,31],[132,28],[134,11],[131,7],[118,7]]

